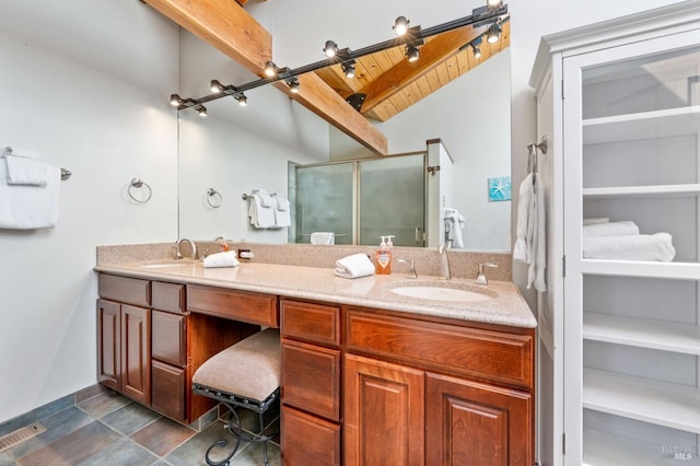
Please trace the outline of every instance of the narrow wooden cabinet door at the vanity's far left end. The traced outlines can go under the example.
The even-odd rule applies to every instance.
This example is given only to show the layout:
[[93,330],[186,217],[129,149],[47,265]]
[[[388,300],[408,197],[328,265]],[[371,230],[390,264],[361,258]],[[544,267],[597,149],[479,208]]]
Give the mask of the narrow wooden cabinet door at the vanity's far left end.
[[116,391],[120,391],[121,378],[119,307],[119,303],[97,300],[97,380]]

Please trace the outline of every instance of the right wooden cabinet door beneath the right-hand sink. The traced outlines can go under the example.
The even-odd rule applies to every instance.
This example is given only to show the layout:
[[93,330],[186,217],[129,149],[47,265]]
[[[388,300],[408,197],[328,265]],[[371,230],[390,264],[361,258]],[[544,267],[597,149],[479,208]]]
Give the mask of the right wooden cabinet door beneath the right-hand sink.
[[527,393],[428,373],[425,410],[432,465],[535,464]]

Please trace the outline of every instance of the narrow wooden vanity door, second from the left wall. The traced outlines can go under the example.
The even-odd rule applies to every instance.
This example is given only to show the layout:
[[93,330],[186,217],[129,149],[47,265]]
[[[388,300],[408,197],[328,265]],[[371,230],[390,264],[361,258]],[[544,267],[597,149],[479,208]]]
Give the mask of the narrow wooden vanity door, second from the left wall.
[[151,313],[121,305],[121,393],[151,403]]

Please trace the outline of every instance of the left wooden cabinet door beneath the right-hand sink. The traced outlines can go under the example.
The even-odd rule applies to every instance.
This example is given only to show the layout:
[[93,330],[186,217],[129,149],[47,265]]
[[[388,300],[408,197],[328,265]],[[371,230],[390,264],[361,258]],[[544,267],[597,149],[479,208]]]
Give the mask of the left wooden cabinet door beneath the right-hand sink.
[[347,354],[345,464],[423,465],[424,372]]

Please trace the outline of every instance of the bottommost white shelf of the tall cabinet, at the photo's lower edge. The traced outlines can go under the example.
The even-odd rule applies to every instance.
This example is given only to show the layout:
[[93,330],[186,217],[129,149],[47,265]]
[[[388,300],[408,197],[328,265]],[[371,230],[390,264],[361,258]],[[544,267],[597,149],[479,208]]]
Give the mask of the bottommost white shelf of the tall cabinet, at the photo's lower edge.
[[[653,445],[626,436],[615,435],[594,429],[583,430],[583,465],[590,466],[658,466],[658,465],[700,465],[696,445],[688,445],[691,457],[674,458],[673,451],[681,454],[686,445]],[[666,448],[666,451],[664,451]]]

